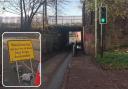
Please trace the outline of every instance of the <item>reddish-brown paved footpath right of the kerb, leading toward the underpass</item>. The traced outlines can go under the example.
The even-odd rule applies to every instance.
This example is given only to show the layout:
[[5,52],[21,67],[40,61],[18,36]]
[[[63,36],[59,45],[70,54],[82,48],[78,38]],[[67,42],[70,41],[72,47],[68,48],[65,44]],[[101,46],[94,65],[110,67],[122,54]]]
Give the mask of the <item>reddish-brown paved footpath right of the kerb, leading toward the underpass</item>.
[[102,70],[89,56],[73,57],[62,89],[128,89],[128,71]]

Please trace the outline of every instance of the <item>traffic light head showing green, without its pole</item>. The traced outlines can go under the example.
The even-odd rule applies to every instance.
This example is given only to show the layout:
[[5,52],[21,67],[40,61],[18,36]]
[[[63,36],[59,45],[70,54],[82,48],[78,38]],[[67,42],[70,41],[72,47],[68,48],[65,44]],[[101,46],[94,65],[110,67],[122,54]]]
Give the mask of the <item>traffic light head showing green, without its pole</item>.
[[107,9],[106,7],[100,7],[100,24],[106,24],[107,23]]

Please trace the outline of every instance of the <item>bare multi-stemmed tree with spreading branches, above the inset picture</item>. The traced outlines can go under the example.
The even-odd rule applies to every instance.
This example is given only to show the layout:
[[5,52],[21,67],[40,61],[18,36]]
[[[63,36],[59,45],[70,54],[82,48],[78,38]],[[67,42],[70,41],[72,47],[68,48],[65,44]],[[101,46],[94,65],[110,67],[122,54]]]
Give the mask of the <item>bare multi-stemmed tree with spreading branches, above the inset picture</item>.
[[5,5],[5,11],[21,15],[21,31],[30,31],[34,16],[45,0],[10,0]]

